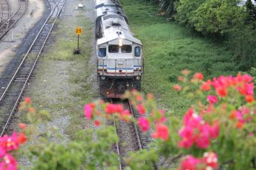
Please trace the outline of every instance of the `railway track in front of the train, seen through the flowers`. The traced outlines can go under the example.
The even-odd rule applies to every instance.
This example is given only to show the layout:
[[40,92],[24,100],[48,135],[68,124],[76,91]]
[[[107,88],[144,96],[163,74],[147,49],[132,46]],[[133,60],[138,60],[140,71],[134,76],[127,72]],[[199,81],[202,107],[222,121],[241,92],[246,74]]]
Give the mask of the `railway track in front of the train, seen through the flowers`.
[[[134,111],[129,100],[124,101],[114,101],[111,100],[112,104],[123,104],[124,109],[128,109],[134,118],[138,117],[138,112]],[[113,146],[113,150],[118,153],[120,158],[127,156],[129,151],[138,151],[145,148],[145,144],[143,143],[143,134],[138,129],[137,125],[134,122],[124,122],[124,121],[116,121],[115,117],[113,117],[113,126],[116,129],[116,134],[119,137],[119,143],[116,143]],[[124,160],[121,160],[119,169],[122,170],[125,167]]]

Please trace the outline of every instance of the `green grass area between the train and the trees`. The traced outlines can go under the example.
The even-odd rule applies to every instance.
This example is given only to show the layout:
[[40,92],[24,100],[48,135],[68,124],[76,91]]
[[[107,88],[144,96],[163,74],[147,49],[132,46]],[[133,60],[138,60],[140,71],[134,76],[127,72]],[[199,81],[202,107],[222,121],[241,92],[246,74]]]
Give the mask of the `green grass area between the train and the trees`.
[[162,107],[182,116],[193,101],[171,88],[180,71],[204,73],[206,79],[234,75],[237,66],[227,47],[202,38],[190,29],[159,16],[157,6],[137,0],[122,0],[132,32],[143,43],[145,79],[143,91],[156,95]]

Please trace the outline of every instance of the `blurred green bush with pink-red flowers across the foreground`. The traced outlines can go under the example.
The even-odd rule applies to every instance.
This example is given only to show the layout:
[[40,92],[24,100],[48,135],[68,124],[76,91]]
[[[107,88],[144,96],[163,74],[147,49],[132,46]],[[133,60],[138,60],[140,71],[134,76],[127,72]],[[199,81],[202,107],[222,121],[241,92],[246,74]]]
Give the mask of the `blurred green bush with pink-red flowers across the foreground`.
[[[254,70],[253,70],[254,73]],[[99,100],[84,105],[84,116],[92,120],[97,141],[92,132],[82,130],[75,141],[67,144],[49,142],[56,130],[36,134],[32,147],[26,154],[33,160],[33,169],[118,169],[120,159],[127,169],[172,169],[173,162],[180,160],[179,170],[185,169],[255,169],[256,153],[256,102],[253,97],[253,79],[249,75],[220,76],[204,81],[202,73],[190,75],[188,70],[179,76],[180,84],[173,88],[195,100],[182,121],[172,112],[164,112],[154,102],[154,96],[143,97],[137,91],[127,92],[124,98],[131,100],[140,113],[136,119],[121,104],[108,104]],[[28,102],[29,101],[29,102]],[[31,136],[45,112],[36,112],[30,100],[22,102],[20,111],[28,112],[28,125],[24,132]],[[150,114],[146,114],[150,112]],[[111,150],[118,142],[113,127],[106,120],[134,121],[142,132],[152,132],[155,141],[147,150],[135,151],[118,158]],[[42,126],[42,124],[41,124]],[[45,126],[48,127],[48,126]],[[6,138],[7,139],[7,138]],[[32,140],[33,140],[32,139]],[[163,164],[159,164],[159,160]],[[16,168],[14,168],[16,169]]]

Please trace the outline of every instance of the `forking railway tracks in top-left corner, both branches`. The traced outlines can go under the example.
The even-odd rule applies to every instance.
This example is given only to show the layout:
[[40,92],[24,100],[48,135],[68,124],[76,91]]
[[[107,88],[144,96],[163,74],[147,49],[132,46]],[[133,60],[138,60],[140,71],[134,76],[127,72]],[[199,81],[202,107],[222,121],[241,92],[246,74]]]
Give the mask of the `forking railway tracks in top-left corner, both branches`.
[[10,4],[8,3],[8,0],[1,1],[4,1],[3,11],[1,13],[3,13],[2,17],[5,20],[2,19],[0,23],[0,40],[18,22],[28,9],[28,0],[19,0],[19,7],[17,11],[10,16]]

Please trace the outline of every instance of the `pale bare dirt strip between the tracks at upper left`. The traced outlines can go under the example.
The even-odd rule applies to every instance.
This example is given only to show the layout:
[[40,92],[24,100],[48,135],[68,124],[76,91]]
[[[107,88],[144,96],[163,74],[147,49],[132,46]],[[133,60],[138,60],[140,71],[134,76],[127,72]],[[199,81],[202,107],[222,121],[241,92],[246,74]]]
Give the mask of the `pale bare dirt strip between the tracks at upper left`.
[[[17,10],[18,0],[10,1],[11,12]],[[40,20],[45,10],[43,0],[29,0],[28,10],[25,15],[17,22],[15,27],[2,38],[0,41],[0,77],[3,70],[15,55],[15,50],[22,43],[26,34]],[[11,43],[10,41],[15,41]]]

